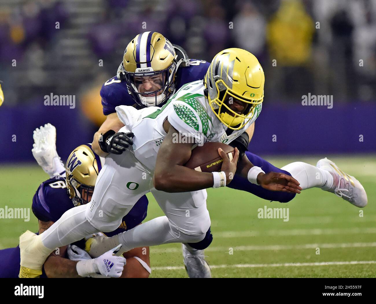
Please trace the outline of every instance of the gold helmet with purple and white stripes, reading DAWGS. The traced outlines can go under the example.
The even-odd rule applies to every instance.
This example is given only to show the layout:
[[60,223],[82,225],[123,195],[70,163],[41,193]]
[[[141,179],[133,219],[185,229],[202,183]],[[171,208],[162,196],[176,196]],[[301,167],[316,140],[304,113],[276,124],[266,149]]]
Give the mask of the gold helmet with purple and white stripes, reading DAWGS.
[[[176,58],[173,44],[162,34],[140,33],[130,41],[124,51],[118,78],[125,78],[129,93],[140,106],[159,105],[175,91],[174,80],[178,67]],[[140,93],[137,89],[139,79],[145,76],[160,76],[161,88]]]

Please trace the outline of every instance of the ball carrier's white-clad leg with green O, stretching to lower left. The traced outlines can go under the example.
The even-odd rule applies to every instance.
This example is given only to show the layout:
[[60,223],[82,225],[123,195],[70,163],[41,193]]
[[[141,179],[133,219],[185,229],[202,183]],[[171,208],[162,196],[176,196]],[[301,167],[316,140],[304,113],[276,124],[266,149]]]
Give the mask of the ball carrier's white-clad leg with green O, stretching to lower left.
[[[143,179],[142,173],[132,163],[131,153],[108,157],[97,178],[91,202],[66,211],[40,236],[30,231],[21,235],[20,277],[40,275],[45,259],[57,247],[88,234],[115,230],[138,199],[149,192],[151,178],[145,175]],[[134,178],[133,184],[129,184],[127,176]]]

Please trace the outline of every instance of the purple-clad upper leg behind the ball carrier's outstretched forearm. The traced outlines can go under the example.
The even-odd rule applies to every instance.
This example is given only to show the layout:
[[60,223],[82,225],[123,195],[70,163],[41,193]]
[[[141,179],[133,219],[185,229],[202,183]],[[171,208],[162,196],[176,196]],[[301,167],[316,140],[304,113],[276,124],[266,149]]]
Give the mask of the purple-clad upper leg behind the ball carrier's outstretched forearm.
[[[291,176],[288,170],[279,169],[256,154],[246,151],[245,156],[249,159],[249,161],[252,164],[254,164],[257,167],[261,167],[261,169],[264,170],[265,173],[280,172],[280,173],[284,173],[284,174]],[[281,203],[290,202],[295,197],[295,193],[270,191],[270,190],[262,188],[259,185],[251,184],[248,181],[248,179],[243,178],[242,176],[237,175],[237,174],[235,174],[233,180],[230,182],[230,184],[227,187],[237,189],[237,190],[247,191],[258,196],[259,198],[267,199],[268,201],[277,201]]]

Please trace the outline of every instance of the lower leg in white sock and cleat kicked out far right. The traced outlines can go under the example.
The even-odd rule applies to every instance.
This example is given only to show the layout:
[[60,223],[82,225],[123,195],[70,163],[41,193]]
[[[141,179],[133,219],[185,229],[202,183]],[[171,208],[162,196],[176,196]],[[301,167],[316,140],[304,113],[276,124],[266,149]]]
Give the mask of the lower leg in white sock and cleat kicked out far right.
[[327,158],[319,160],[316,166],[298,161],[282,169],[288,170],[293,178],[300,182],[303,190],[318,187],[335,193],[356,207],[367,205],[367,193],[361,183],[354,176],[344,173]]

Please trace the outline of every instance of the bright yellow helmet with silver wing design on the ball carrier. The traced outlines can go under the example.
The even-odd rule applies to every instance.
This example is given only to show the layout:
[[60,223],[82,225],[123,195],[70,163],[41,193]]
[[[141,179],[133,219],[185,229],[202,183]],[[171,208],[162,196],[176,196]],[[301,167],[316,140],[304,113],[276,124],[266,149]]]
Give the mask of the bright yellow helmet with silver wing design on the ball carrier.
[[[264,71],[250,52],[237,48],[219,52],[205,76],[207,98],[215,116],[227,128],[243,128],[264,100],[264,82]],[[231,98],[245,103],[243,111],[230,109]]]

